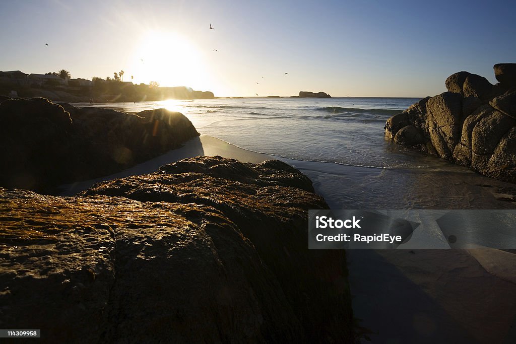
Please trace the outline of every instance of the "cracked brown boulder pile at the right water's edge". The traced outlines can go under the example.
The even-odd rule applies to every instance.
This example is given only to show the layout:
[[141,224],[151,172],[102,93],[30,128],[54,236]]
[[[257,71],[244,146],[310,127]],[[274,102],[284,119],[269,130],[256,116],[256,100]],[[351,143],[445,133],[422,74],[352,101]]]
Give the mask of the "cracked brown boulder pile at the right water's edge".
[[506,182],[516,183],[516,73],[495,64],[500,83],[450,75],[448,92],[426,97],[385,123],[385,136]]

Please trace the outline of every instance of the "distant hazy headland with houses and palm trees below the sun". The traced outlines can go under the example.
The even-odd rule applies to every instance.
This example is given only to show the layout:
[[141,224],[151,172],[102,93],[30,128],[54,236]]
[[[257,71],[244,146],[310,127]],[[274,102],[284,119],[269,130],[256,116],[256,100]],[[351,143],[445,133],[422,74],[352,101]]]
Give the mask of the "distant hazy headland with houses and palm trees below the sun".
[[123,71],[105,79],[91,80],[70,77],[60,70],[46,74],[27,74],[21,71],[0,71],[0,95],[10,97],[45,97],[62,102],[140,102],[164,99],[214,99],[213,92],[195,91],[189,87],[160,87],[156,81],[133,84],[123,81]]

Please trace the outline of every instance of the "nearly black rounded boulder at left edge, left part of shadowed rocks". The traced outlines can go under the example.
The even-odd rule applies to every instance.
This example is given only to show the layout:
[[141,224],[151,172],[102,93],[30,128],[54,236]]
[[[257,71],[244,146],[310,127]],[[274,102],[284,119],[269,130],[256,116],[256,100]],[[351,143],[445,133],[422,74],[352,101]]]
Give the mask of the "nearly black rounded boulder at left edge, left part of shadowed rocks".
[[38,189],[69,176],[72,119],[44,98],[0,103],[0,185]]

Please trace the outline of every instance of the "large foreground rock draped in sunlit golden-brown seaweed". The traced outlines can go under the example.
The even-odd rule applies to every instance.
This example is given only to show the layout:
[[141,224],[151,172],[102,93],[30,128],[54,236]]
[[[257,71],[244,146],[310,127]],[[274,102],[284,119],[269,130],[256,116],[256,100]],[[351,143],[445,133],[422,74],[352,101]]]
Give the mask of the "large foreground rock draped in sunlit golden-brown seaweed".
[[345,252],[308,250],[320,208],[285,163],[221,157],[74,197],[0,188],[0,327],[44,342],[350,343]]

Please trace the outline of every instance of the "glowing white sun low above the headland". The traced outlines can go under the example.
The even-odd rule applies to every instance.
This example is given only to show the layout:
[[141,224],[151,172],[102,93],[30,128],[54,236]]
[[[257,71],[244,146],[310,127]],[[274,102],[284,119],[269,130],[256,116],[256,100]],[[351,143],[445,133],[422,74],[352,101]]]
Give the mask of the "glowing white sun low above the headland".
[[157,81],[160,86],[202,89],[207,84],[199,48],[175,32],[149,32],[134,53],[135,84]]

